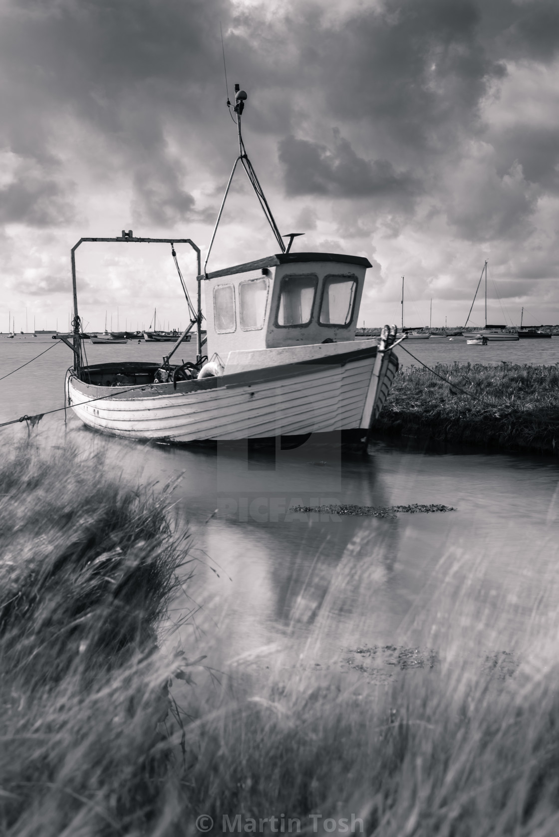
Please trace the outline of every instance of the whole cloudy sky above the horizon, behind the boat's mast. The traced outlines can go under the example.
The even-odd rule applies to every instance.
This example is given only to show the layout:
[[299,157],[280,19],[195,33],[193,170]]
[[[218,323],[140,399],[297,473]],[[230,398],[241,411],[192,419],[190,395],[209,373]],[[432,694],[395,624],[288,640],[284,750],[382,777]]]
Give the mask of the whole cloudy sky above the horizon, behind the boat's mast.
[[[2,0],[2,331],[67,326],[81,236],[207,249],[236,157],[220,23],[280,229],[373,264],[361,320],[399,318],[405,275],[408,325],[431,299],[463,323],[488,259],[489,321],[559,322],[557,0]],[[240,171],[209,270],[276,249]],[[77,263],[90,328],[186,321],[168,247]]]

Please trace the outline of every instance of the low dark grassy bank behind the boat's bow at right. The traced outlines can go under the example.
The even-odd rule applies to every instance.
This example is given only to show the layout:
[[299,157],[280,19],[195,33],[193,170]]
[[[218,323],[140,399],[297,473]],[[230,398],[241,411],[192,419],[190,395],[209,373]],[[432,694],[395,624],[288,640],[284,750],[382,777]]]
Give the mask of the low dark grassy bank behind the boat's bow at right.
[[559,452],[559,368],[503,363],[437,364],[398,372],[375,431],[478,444],[485,448]]

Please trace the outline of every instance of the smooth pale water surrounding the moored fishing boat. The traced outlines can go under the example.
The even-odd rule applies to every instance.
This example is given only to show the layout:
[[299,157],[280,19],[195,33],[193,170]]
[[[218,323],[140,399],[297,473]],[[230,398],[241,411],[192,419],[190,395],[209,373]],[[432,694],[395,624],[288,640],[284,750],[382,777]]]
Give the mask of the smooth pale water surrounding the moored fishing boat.
[[[450,345],[439,359],[453,359]],[[509,354],[511,347],[524,351],[524,345],[496,348]],[[0,341],[0,375],[47,347],[46,340]],[[522,362],[535,348],[555,362],[555,347],[559,341],[526,347]],[[190,357],[186,350],[194,354],[190,344],[184,359]],[[161,347],[145,343],[87,348],[95,361],[108,358],[109,351],[122,359],[161,356]],[[437,362],[438,347],[414,345],[411,351]],[[462,357],[465,347],[456,352]],[[60,407],[70,361],[70,350],[56,345],[5,378],[3,419]],[[243,443],[173,448],[110,439],[83,428],[71,413],[65,425],[64,415],[45,418],[34,437],[41,444],[72,439],[80,449],[102,449],[132,481],[164,485],[181,477],[173,513],[190,522],[195,577],[173,614],[179,617],[193,601],[202,605],[196,641],[217,640],[226,659],[277,644],[293,657],[306,650],[323,664],[363,645],[490,654],[521,651],[535,637],[556,640],[554,460],[440,454],[397,444],[374,444],[366,456],[342,456],[337,447],[318,448],[312,440],[275,452]],[[4,432],[9,444],[13,433],[25,436],[27,429],[23,424]],[[344,503],[443,503],[457,511],[395,519],[288,511]],[[182,631],[191,642],[192,628]]]

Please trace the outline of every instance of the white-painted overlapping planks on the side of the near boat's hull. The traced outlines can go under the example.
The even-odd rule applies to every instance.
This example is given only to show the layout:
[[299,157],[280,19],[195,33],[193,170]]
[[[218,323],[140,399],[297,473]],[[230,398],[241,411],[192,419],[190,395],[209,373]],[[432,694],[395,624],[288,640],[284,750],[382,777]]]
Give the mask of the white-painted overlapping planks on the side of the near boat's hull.
[[[359,348],[365,342],[374,343],[360,341]],[[344,344],[325,345],[336,352]],[[290,351],[300,348],[313,347]],[[351,348],[357,348],[355,342]],[[255,370],[254,377],[231,385],[227,385],[225,374],[220,378],[223,386],[187,393],[181,393],[179,387],[173,392],[156,384],[115,393],[112,388],[78,381],[69,373],[68,398],[84,424],[128,439],[189,442],[357,429],[362,426],[374,363],[371,355],[344,366],[309,364],[303,370],[298,367],[296,371],[302,374],[290,376],[287,372],[287,377],[278,381],[259,380],[261,372]],[[389,366],[387,360],[382,368]],[[385,383],[382,375],[377,389]],[[103,400],[94,400],[100,397]]]

